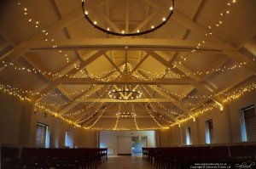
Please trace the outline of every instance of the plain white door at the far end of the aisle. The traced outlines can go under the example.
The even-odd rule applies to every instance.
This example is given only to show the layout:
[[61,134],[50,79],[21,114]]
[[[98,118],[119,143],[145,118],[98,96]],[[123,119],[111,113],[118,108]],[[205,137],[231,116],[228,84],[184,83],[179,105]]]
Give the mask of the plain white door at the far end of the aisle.
[[131,137],[118,136],[118,155],[131,155]]

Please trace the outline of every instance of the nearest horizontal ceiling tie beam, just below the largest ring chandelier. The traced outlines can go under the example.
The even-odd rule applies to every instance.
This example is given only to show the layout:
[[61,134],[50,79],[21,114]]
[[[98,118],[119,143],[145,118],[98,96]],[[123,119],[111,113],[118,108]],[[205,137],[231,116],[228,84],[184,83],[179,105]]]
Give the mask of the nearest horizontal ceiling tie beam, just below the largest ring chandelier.
[[[55,40],[58,48],[52,48],[51,42],[45,41],[27,41],[26,47],[31,50],[82,50],[82,49],[150,49],[150,50],[174,50],[174,51],[191,51],[197,46],[198,42],[189,40],[173,39],[138,39],[138,38],[91,38],[91,39],[65,39]],[[198,52],[216,52],[233,51],[236,48],[225,42],[207,42]]]

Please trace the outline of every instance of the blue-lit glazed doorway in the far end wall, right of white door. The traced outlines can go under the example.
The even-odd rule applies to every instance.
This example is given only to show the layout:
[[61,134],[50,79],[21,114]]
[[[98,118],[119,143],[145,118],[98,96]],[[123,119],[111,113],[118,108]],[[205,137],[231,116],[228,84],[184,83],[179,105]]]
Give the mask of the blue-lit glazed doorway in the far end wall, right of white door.
[[147,147],[147,137],[131,137],[132,155],[143,155],[143,147]]

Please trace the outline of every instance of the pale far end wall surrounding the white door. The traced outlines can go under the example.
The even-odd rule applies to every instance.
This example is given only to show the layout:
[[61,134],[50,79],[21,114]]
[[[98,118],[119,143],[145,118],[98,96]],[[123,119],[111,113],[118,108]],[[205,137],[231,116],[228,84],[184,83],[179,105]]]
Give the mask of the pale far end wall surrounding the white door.
[[147,137],[147,147],[155,147],[155,134],[153,131],[101,131],[100,147],[113,149],[113,154],[118,152],[118,137]]

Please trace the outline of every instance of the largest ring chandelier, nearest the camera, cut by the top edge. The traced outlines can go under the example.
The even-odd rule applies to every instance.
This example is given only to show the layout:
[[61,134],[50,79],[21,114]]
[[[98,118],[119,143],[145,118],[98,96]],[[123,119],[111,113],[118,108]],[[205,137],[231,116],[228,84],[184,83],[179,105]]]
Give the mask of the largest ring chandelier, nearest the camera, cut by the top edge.
[[[174,8],[174,0],[166,0],[165,2],[167,2],[167,3],[160,6],[160,7],[166,7],[167,5],[169,5],[169,3],[172,4],[169,7],[166,7],[168,9],[155,7],[156,5],[151,4],[152,8],[153,7],[157,8],[158,13],[160,13],[161,16],[155,12],[154,14],[152,14],[148,18],[146,18],[146,21],[144,20],[144,21],[142,21],[142,23],[140,23],[140,25],[135,26],[135,29],[133,29],[132,31],[128,31],[129,29],[127,28],[127,24],[129,24],[129,20],[127,20],[127,18],[129,18],[129,16],[127,14],[126,14],[126,20],[125,20],[125,22],[126,22],[125,29],[119,29],[118,26],[116,26],[113,23],[113,21],[110,20],[105,15],[102,16],[100,14],[100,17],[98,16],[99,14],[96,15],[95,17],[91,16],[91,14],[89,12],[90,10],[88,8],[89,2],[95,3],[95,1],[92,1],[92,0],[86,0],[86,1],[82,0],[82,9],[83,9],[84,17],[90,23],[90,25],[93,25],[99,31],[103,31],[108,34],[115,35],[115,36],[121,36],[121,37],[140,36],[140,35],[148,34],[150,32],[158,30],[162,25],[165,25],[166,22],[171,18],[172,14],[173,14],[173,8]],[[120,0],[118,0],[118,2],[120,2]],[[156,4],[158,4],[158,3],[160,3],[160,0],[155,0],[155,2],[156,2]],[[138,2],[136,1],[136,3],[138,3]],[[148,3],[148,4],[150,4],[150,3]],[[126,10],[127,10],[127,8],[126,8]],[[146,10],[146,11],[147,12],[145,12],[145,14],[148,14],[148,10]],[[137,12],[137,11],[135,11],[135,12]],[[154,19],[154,15],[157,15],[157,19]],[[98,19],[98,20],[96,20],[96,19]],[[153,20],[154,20],[154,23],[151,23],[151,21],[153,21]],[[102,23],[102,22],[105,22],[105,23]]]

